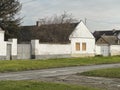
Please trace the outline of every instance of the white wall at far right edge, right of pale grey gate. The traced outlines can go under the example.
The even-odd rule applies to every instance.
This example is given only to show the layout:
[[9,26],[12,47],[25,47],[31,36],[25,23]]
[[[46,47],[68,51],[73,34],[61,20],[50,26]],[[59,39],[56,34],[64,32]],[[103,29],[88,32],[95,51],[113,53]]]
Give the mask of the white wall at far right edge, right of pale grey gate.
[[120,45],[111,45],[110,54],[111,56],[120,55]]

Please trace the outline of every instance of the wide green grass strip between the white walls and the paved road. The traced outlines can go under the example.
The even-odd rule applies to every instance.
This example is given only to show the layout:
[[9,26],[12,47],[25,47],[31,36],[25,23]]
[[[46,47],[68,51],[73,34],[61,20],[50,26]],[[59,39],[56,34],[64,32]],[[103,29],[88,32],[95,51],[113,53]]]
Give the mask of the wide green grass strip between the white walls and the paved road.
[[56,67],[120,63],[120,57],[65,58],[49,60],[0,61],[0,72],[39,70]]

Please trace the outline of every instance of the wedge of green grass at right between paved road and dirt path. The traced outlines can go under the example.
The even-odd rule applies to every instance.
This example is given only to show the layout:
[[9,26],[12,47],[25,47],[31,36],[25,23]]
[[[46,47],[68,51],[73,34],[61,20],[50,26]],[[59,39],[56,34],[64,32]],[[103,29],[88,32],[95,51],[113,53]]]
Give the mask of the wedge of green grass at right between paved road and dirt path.
[[107,77],[107,78],[120,78],[120,68],[93,70],[93,71],[83,72],[79,75]]

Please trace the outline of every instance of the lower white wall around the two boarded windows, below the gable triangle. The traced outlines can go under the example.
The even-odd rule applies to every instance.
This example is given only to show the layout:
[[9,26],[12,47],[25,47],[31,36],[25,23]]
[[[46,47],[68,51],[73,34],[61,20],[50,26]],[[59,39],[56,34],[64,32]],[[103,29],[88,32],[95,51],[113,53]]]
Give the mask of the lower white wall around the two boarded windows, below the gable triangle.
[[[76,51],[76,43],[80,43],[80,51]],[[86,51],[82,51],[82,43],[86,43]],[[95,39],[72,38],[72,54],[95,54]]]

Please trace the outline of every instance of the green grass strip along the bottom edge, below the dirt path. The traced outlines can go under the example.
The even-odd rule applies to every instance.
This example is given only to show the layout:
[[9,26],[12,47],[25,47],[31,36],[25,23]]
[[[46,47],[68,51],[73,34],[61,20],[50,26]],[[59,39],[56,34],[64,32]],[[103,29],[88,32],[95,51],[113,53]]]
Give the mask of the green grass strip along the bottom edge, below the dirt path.
[[67,84],[45,83],[39,81],[0,81],[0,90],[100,90]]

